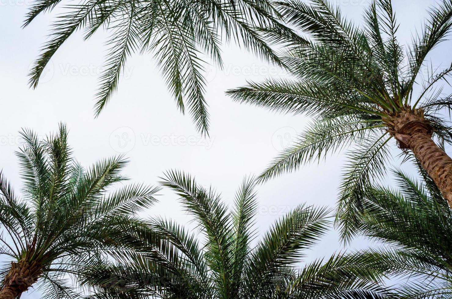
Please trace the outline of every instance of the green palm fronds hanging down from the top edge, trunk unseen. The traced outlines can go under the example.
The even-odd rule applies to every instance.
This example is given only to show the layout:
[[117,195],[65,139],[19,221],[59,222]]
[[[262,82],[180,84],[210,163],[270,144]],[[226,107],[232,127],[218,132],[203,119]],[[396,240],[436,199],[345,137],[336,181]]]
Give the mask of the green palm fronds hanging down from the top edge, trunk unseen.
[[[37,0],[29,10],[24,26],[39,14],[60,8],[60,2]],[[84,29],[85,39],[88,39],[99,28],[104,28],[110,37],[106,68],[96,95],[96,116],[116,90],[127,57],[133,52],[152,52],[179,110],[184,113],[188,106],[201,133],[207,133],[209,127],[201,57],[208,56],[221,67],[220,45],[224,40],[254,51],[259,58],[280,63],[279,57],[261,37],[259,28],[291,34],[279,22],[280,16],[269,0],[89,0],[62,8],[64,10],[52,24],[50,39],[30,71],[33,88],[68,37]]]

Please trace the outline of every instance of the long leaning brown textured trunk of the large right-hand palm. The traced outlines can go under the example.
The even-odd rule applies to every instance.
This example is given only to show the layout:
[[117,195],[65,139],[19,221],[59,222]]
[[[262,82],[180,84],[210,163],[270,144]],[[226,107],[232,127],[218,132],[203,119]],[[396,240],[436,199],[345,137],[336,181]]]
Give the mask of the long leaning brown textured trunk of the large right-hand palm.
[[424,112],[406,107],[384,121],[399,147],[413,151],[452,208],[452,159],[432,140],[433,128],[424,118]]

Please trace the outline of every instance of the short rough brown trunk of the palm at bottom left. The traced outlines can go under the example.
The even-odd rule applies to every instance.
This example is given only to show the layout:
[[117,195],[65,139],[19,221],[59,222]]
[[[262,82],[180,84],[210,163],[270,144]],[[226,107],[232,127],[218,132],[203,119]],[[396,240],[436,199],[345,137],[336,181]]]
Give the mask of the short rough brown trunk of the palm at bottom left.
[[4,287],[0,290],[0,299],[14,299],[28,290],[38,280],[40,268],[37,262],[11,262]]

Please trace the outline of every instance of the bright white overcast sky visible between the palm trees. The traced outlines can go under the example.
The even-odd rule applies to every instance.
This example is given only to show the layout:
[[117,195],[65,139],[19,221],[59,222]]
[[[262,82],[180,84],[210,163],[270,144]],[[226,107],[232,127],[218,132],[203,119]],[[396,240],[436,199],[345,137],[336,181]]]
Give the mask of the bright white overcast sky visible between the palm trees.
[[[336,0],[344,13],[361,21],[368,0]],[[399,40],[410,41],[435,0],[393,0],[401,23]],[[278,68],[231,45],[224,47],[223,70],[208,68],[206,98],[211,115],[210,138],[202,138],[190,116],[182,116],[160,77],[151,56],[133,56],[116,93],[100,117],[94,119],[94,94],[102,71],[105,36],[83,42],[72,36],[52,58],[36,90],[28,88],[28,70],[42,42],[51,16],[38,17],[22,29],[31,0],[0,0],[0,169],[19,190],[21,181],[14,151],[18,131],[32,128],[39,135],[55,131],[63,121],[70,129],[75,157],[89,166],[97,159],[125,154],[130,158],[126,174],[135,182],[155,184],[171,168],[196,176],[199,183],[216,187],[231,203],[246,175],[257,174],[309,121],[303,116],[282,115],[263,108],[234,103],[224,92],[246,81],[283,76]],[[450,65],[451,43],[443,43],[431,56],[434,67]],[[450,150],[449,150],[450,152]],[[398,154],[397,149],[395,154]],[[341,156],[302,168],[258,188],[260,233],[293,207],[335,206],[342,165]],[[160,203],[144,216],[164,215],[181,223],[189,218],[176,196],[162,192]],[[361,240],[354,247],[366,246]],[[332,232],[311,252],[309,260],[342,250]],[[30,292],[29,292],[30,293]],[[40,298],[37,291],[22,298]]]

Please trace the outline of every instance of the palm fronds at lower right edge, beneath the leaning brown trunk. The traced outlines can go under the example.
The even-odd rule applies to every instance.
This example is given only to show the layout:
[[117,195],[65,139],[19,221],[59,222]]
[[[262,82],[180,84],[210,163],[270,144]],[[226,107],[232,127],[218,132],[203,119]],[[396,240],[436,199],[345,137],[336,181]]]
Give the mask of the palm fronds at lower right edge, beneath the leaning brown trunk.
[[396,188],[368,188],[359,232],[388,248],[381,258],[408,273],[403,298],[452,295],[452,210],[434,182],[395,171]]

